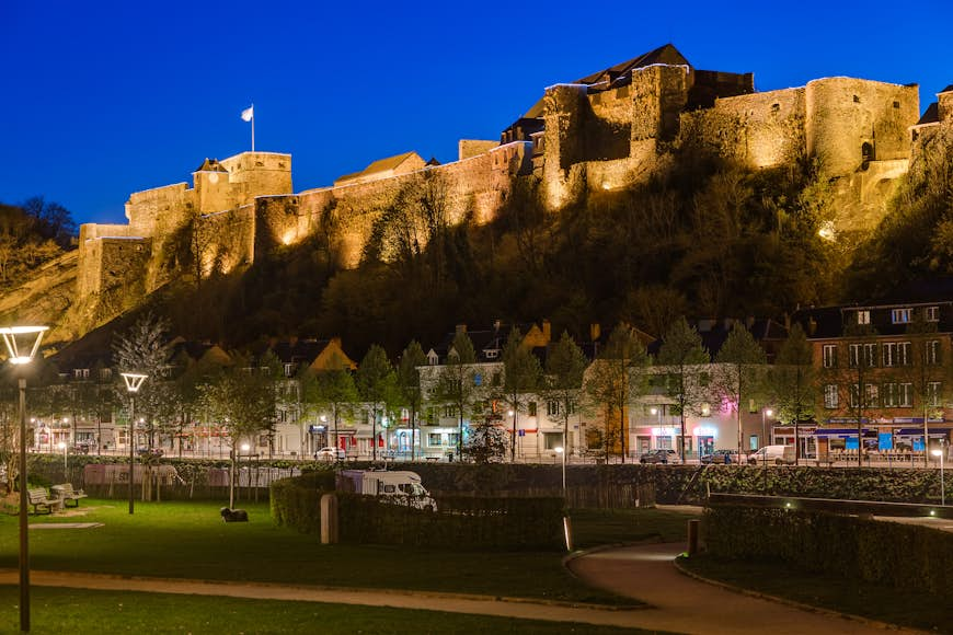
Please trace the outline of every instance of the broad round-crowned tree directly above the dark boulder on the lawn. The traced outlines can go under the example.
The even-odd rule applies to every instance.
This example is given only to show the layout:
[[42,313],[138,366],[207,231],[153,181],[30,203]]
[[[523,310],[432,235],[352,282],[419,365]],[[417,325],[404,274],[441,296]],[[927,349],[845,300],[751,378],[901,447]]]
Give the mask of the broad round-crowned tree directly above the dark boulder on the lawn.
[[277,395],[271,372],[259,368],[229,369],[202,386],[206,412],[228,431],[232,460],[229,478],[229,507],[234,507],[236,448],[242,439],[275,431]]

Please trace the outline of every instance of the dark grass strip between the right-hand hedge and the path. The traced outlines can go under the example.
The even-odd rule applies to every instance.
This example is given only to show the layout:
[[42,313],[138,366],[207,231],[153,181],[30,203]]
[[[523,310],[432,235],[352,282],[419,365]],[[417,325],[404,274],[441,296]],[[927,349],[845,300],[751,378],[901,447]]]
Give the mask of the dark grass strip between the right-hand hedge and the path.
[[705,556],[680,562],[691,572],[736,587],[900,626],[953,633],[953,609],[944,600],[929,594],[806,574],[782,563],[721,561]]

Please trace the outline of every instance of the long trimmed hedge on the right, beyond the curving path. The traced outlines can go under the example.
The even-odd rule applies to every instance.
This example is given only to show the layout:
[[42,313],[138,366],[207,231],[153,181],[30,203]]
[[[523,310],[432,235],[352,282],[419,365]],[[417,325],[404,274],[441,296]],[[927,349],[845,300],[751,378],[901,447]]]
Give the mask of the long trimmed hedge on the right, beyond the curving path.
[[716,557],[782,561],[802,570],[923,591],[953,602],[953,533],[740,506],[707,509],[702,528],[707,549]]

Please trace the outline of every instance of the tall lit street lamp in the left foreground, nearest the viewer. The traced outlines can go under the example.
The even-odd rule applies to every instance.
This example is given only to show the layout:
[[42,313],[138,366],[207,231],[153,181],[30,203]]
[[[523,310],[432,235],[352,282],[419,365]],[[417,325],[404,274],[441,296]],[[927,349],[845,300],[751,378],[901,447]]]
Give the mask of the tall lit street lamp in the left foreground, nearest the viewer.
[[47,326],[0,328],[10,363],[21,368],[20,386],[20,631],[30,631],[30,542],[26,535],[26,378],[22,368],[33,360]]

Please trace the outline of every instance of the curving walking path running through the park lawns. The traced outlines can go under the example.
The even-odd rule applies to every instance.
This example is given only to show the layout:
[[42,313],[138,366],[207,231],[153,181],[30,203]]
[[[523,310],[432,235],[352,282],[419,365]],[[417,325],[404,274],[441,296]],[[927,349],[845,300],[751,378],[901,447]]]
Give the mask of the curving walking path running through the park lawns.
[[[570,568],[588,584],[636,598],[650,608],[612,609],[565,605],[439,592],[341,589],[257,582],[219,582],[96,574],[32,572],[34,586],[79,589],[227,596],[474,613],[526,620],[582,622],[677,633],[879,633],[864,622],[800,610],[735,593],[680,574],[673,558],[681,544],[608,549],[573,559]],[[18,584],[15,570],[0,570],[0,584]]]

